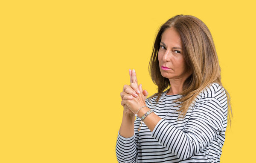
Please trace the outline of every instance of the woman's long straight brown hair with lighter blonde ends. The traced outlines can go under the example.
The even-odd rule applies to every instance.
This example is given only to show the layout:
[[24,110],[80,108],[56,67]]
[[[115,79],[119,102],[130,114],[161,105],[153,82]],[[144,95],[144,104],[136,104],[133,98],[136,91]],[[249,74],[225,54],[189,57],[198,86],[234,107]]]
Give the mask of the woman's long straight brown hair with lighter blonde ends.
[[[169,79],[161,75],[157,55],[162,34],[171,27],[175,28],[180,34],[183,55],[187,66],[192,70],[192,74],[183,83],[183,92],[180,93],[183,96],[177,100],[181,102],[178,111],[180,115],[184,116],[190,104],[210,83],[215,82],[222,86],[221,71],[212,35],[207,26],[197,17],[183,14],[176,15],[160,27],[154,41],[148,69],[153,82],[158,86],[158,92],[149,98],[157,96],[158,102],[162,92],[170,86]],[[226,89],[224,90],[227,94],[228,117],[231,122],[230,95]]]

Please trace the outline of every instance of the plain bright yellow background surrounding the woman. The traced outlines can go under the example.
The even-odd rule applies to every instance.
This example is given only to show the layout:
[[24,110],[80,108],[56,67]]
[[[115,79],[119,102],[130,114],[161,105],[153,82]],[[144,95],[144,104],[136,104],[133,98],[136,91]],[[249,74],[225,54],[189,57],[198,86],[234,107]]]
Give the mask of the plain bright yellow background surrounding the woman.
[[0,162],[116,163],[119,93],[148,73],[154,37],[176,14],[215,41],[233,121],[221,163],[255,160],[255,3],[243,1],[0,2]]

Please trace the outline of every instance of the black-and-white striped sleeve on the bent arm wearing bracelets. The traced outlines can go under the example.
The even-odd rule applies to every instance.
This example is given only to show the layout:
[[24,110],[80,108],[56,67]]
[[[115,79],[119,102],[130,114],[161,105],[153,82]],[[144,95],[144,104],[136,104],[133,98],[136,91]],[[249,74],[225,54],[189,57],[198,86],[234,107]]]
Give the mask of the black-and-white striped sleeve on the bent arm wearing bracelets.
[[179,159],[186,160],[209,146],[219,132],[226,130],[224,108],[216,98],[198,100],[183,130],[160,120],[151,136]]

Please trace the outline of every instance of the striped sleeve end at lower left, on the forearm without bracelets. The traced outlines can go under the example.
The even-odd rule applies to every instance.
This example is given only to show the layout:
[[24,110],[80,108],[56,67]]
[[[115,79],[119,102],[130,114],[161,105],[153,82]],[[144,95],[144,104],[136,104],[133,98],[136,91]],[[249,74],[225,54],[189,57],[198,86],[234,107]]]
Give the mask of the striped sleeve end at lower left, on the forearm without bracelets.
[[135,134],[132,137],[125,138],[118,132],[116,140],[116,158],[119,163],[137,163]]

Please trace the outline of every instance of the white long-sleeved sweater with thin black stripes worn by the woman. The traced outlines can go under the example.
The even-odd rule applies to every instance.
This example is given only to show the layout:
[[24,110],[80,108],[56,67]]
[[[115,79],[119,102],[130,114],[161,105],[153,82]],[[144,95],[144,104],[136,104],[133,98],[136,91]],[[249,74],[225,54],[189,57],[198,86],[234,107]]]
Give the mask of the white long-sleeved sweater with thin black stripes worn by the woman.
[[119,163],[219,163],[227,128],[227,96],[224,88],[212,83],[178,120],[179,94],[161,94],[146,99],[146,105],[162,119],[151,132],[145,123],[138,131],[140,117],[134,122],[134,136],[119,132],[116,157]]

